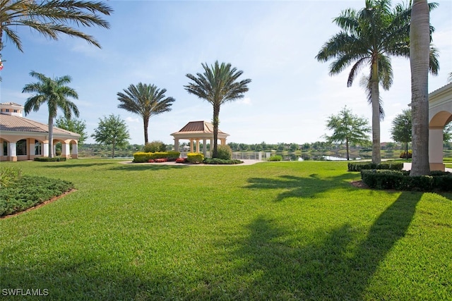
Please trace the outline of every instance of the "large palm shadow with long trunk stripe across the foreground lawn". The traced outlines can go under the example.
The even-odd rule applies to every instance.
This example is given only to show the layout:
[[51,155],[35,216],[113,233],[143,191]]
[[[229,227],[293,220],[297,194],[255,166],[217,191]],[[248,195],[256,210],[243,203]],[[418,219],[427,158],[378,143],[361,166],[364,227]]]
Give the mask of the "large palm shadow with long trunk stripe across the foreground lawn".
[[[239,241],[231,261],[239,264],[233,274],[248,279],[237,284],[241,298],[364,300],[365,291],[379,264],[405,236],[422,194],[403,192],[383,211],[359,241],[356,230],[344,224],[322,231],[322,239],[307,245],[302,231],[295,235],[278,221],[260,216],[248,226],[249,236]],[[394,288],[397,290],[398,288]],[[382,297],[384,298],[384,296]]]

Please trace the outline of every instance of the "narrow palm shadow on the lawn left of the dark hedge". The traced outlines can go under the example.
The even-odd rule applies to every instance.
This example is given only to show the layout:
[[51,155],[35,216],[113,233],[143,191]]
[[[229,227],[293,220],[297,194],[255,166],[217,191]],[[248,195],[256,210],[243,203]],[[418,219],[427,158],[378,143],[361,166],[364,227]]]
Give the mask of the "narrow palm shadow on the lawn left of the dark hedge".
[[[276,197],[275,202],[280,202],[286,197],[315,197],[316,193],[325,192],[340,185],[352,189],[347,183],[356,178],[355,173],[344,173],[331,178],[320,178],[316,173],[309,177],[280,176],[279,178],[249,178],[250,189],[285,189]],[[347,186],[348,185],[348,186]]]

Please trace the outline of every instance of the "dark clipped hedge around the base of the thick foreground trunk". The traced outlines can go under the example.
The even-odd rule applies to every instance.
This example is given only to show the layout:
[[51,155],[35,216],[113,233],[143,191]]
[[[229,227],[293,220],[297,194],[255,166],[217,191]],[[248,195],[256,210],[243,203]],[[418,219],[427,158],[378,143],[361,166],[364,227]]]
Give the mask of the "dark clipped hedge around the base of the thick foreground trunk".
[[410,176],[409,171],[362,170],[362,182],[369,188],[414,190],[414,191],[452,191],[452,174],[434,171],[430,176]]

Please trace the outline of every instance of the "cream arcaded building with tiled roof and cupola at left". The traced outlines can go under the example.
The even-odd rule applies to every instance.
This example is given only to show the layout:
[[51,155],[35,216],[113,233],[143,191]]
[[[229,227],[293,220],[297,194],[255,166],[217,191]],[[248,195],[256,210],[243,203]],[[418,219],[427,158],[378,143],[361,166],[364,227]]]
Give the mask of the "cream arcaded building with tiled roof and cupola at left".
[[[49,156],[49,126],[23,118],[22,112],[23,106],[20,104],[0,104],[0,161],[32,160],[37,156]],[[54,127],[53,140],[61,142],[61,156],[78,158],[79,138],[77,133]],[[56,153],[55,144],[53,152]]]

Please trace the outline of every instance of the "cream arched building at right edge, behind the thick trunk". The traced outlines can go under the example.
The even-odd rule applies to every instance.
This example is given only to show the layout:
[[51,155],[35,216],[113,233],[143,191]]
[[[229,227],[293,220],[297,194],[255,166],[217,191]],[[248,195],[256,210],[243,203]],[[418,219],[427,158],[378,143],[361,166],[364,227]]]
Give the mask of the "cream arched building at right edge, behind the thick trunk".
[[430,170],[444,171],[443,130],[452,121],[452,82],[429,94]]

